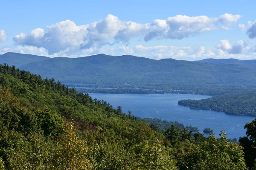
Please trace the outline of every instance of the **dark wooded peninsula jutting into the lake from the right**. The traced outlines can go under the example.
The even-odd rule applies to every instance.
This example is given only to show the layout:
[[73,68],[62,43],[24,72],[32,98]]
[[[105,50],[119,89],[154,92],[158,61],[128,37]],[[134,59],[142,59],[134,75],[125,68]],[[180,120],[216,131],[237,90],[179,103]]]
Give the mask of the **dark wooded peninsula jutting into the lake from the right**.
[[256,93],[226,94],[201,100],[187,99],[178,101],[178,105],[233,115],[256,116]]

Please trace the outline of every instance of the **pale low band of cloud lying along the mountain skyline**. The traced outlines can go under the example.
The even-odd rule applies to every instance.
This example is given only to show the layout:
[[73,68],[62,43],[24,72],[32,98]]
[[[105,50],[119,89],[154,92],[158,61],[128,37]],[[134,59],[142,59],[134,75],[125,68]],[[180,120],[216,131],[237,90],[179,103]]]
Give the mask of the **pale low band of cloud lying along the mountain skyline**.
[[[240,41],[239,41],[240,42]],[[222,42],[221,42],[222,44]],[[225,44],[225,43],[224,43]],[[236,44],[239,44],[238,42]],[[241,43],[242,44],[242,43]],[[217,45],[218,46],[218,45]],[[134,47],[128,46],[118,46],[111,47],[108,46],[97,48],[96,50],[92,49],[84,49],[77,51],[75,53],[67,54],[65,51],[61,51],[52,55],[48,55],[47,50],[45,48],[37,48],[34,46],[23,46],[16,45],[13,47],[3,47],[0,45],[0,54],[4,54],[6,52],[17,52],[24,54],[34,54],[34,55],[42,55],[48,57],[85,57],[94,54],[108,54],[108,55],[134,55],[139,57],[147,57],[151,59],[165,59],[165,58],[173,58],[173,59],[183,59],[183,60],[200,60],[205,58],[236,58],[236,59],[255,59],[256,58],[256,48],[250,48],[252,53],[244,54],[244,53],[230,53],[230,46],[236,45],[226,45],[226,47],[222,48],[207,48],[204,46],[194,46],[194,47],[177,47],[177,46],[166,46],[166,45],[156,45],[156,46],[143,46],[143,45],[135,45]]]

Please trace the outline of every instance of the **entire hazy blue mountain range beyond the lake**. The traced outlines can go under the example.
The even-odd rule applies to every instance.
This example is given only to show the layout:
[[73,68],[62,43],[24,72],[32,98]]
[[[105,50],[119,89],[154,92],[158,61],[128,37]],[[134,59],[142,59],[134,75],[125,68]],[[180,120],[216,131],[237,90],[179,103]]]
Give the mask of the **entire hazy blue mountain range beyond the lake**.
[[204,59],[189,62],[130,55],[49,58],[6,53],[0,56],[0,63],[15,65],[33,74],[61,82],[129,83],[156,88],[164,85],[180,89],[256,85],[256,67],[252,67],[255,60]]

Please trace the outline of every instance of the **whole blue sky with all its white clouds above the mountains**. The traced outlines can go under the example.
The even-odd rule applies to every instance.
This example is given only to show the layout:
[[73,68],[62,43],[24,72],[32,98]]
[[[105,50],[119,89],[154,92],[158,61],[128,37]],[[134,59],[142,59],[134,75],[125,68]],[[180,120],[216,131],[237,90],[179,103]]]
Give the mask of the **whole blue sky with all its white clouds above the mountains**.
[[253,0],[3,0],[0,54],[256,59],[255,6]]

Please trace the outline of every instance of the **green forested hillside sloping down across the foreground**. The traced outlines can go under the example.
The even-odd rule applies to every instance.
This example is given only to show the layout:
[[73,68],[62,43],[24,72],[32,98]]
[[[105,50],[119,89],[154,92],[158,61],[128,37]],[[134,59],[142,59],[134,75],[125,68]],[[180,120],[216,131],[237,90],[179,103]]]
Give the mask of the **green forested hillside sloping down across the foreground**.
[[0,65],[0,169],[252,169],[255,125],[245,125],[241,145],[224,131],[219,138],[175,125],[161,131],[54,79]]

